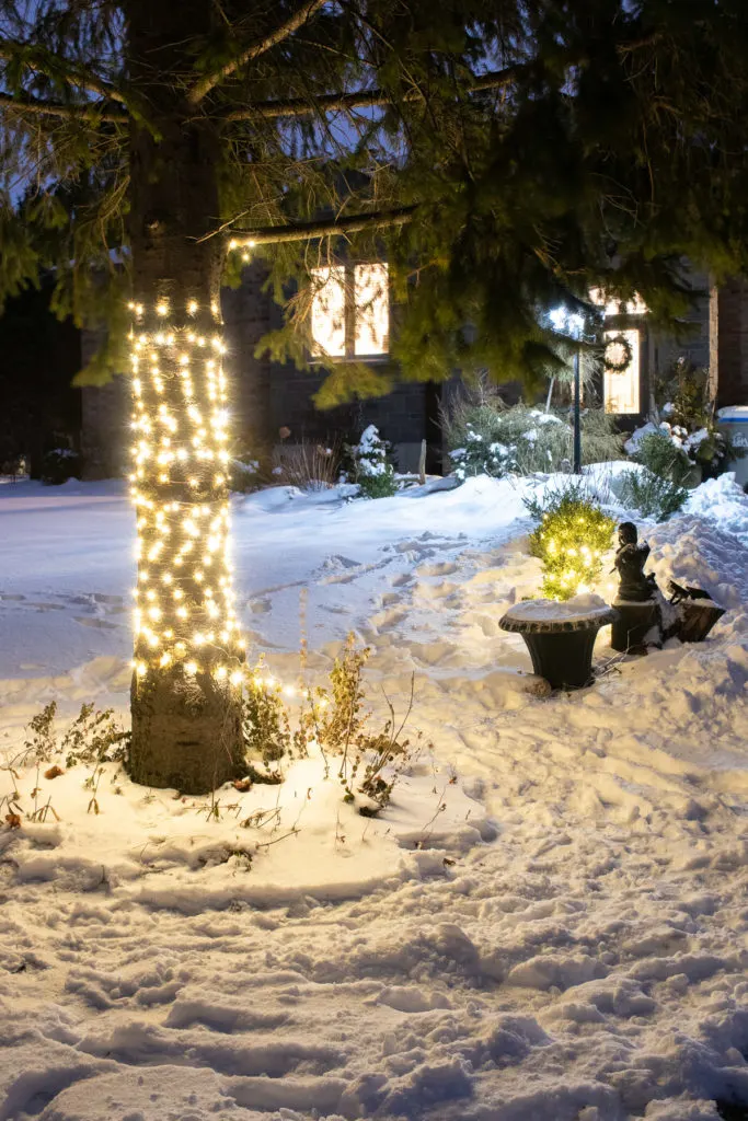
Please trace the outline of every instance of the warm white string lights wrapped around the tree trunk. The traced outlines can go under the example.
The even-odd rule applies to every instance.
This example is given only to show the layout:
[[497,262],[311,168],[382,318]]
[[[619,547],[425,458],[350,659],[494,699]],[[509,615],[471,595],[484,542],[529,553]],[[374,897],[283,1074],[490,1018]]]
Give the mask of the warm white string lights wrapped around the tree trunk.
[[185,305],[176,325],[159,297],[129,305],[131,495],[138,527],[135,660],[138,677],[174,669],[238,686],[239,633],[229,556],[228,393],[215,303]]

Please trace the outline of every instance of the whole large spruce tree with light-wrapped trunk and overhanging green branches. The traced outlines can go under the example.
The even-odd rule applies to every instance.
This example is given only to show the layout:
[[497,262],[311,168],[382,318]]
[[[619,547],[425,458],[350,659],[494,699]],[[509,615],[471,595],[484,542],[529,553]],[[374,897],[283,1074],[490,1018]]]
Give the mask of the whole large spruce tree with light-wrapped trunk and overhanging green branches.
[[[131,772],[241,766],[219,288],[262,254],[303,363],[310,274],[389,261],[405,377],[533,383],[592,286],[684,309],[746,263],[742,0],[0,0],[0,300],[54,269],[127,363],[139,578]],[[231,251],[232,247],[236,251]],[[293,295],[292,295],[293,294]],[[129,335],[129,341],[128,341]],[[124,355],[127,354],[127,358]],[[230,372],[230,371],[229,371]],[[391,370],[331,363],[322,404]]]

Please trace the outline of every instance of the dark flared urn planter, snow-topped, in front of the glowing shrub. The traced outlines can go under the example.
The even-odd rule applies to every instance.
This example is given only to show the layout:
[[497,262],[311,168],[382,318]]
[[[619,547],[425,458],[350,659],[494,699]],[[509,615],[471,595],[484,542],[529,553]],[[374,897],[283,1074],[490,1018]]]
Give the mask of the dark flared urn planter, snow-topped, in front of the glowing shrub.
[[545,602],[548,601],[515,604],[501,619],[501,630],[521,634],[533,669],[552,688],[580,689],[591,685],[594,640],[601,627],[616,620],[616,612],[604,608],[571,618],[541,619],[535,609]]

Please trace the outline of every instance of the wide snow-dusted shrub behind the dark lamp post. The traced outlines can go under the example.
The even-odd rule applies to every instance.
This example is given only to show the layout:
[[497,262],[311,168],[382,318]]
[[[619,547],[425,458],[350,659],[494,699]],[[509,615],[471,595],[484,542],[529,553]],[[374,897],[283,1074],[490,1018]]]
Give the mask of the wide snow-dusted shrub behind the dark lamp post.
[[[562,469],[573,454],[574,433],[569,410],[544,411],[527,405],[507,408],[499,398],[459,402],[443,417],[447,446],[459,479],[472,474],[520,474]],[[621,437],[602,409],[583,409],[582,460],[600,463],[618,458]],[[490,448],[498,450],[492,456]],[[481,467],[482,465],[482,467]]]

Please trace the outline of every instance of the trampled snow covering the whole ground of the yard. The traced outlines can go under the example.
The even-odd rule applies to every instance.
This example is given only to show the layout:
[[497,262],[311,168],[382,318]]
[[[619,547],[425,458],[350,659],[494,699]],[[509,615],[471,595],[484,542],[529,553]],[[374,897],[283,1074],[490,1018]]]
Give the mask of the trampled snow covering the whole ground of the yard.
[[[544,697],[499,629],[542,485],[236,499],[273,673],[305,591],[312,684],[355,630],[433,748],[376,819],[315,759],[218,821],[113,765],[99,815],[85,768],[39,778],[61,819],[0,828],[0,1121],[748,1117],[748,498],[644,527],[728,609],[709,641],[611,661],[604,629],[597,684]],[[116,483],[0,487],[0,756],[50,700],[126,714],[132,535]]]

